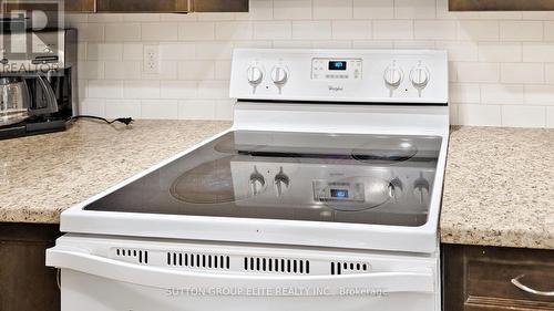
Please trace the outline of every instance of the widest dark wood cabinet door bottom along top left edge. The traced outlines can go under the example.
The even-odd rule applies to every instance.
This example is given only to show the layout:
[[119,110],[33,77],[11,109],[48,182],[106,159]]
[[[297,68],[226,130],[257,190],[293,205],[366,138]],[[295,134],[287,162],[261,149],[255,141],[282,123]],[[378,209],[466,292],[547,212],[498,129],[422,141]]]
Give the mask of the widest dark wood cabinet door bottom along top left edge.
[[189,0],[96,0],[98,12],[188,12]]

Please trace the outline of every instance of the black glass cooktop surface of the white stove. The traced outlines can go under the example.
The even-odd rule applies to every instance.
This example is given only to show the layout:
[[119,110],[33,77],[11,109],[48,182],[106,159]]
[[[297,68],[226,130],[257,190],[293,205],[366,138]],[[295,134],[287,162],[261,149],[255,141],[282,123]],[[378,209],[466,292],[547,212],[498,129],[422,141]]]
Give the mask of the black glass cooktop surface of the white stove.
[[441,141],[230,132],[84,209],[421,226]]

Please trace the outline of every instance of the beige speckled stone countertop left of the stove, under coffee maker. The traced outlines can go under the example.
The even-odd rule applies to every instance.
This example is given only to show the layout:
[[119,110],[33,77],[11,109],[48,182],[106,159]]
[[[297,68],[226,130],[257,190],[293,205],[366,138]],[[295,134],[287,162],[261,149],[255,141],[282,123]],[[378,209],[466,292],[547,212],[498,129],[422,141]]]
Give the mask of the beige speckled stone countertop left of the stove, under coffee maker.
[[0,141],[0,221],[59,222],[60,214],[230,127],[215,121],[79,121],[69,131]]

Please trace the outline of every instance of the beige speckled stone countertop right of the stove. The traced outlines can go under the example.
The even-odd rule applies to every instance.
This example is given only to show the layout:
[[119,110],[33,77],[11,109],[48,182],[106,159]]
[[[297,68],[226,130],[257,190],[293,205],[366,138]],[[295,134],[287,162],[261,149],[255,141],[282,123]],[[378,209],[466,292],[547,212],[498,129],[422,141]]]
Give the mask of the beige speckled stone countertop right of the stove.
[[447,243],[554,249],[554,129],[452,128]]

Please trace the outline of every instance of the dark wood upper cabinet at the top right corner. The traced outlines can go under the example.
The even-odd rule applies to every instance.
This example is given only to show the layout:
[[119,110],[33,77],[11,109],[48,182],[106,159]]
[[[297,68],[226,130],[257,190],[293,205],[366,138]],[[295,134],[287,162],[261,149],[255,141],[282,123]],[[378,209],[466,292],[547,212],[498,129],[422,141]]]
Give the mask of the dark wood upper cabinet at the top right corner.
[[553,0],[449,0],[450,11],[550,11]]

